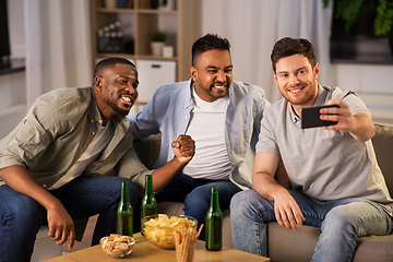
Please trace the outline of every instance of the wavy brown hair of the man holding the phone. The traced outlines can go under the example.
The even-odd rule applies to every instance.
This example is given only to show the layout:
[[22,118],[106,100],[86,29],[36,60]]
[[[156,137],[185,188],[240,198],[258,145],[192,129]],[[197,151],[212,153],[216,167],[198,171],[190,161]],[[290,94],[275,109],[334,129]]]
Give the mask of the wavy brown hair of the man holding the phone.
[[315,67],[317,58],[314,48],[309,40],[305,38],[295,39],[290,37],[284,37],[276,41],[271,55],[273,72],[276,72],[276,63],[279,59],[298,53],[307,57],[312,68]]

